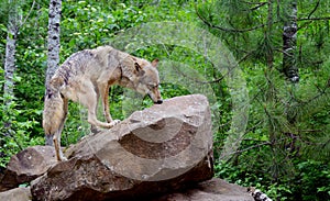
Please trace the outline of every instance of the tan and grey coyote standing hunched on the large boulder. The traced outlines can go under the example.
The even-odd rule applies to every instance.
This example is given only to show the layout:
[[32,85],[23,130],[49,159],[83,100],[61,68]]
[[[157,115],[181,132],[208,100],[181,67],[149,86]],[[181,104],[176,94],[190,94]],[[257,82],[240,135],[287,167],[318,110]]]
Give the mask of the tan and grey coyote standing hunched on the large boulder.
[[[73,54],[58,67],[50,83],[43,111],[43,129],[46,145],[55,146],[58,161],[65,160],[61,150],[61,133],[68,110],[68,100],[79,102],[88,109],[91,127],[110,129],[119,120],[112,120],[109,112],[109,88],[119,85],[148,94],[154,103],[163,102],[158,90],[158,59],[152,63],[114,49],[101,46]],[[107,122],[97,120],[98,100],[101,98]]]

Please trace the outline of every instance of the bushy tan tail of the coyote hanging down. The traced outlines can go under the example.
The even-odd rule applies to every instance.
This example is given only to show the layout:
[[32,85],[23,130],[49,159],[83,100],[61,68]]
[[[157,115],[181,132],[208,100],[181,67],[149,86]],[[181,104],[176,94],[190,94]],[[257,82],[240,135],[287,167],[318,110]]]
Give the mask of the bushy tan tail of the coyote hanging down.
[[53,145],[54,134],[61,132],[66,118],[65,100],[59,92],[63,85],[63,79],[55,77],[47,86],[43,111],[45,145]]

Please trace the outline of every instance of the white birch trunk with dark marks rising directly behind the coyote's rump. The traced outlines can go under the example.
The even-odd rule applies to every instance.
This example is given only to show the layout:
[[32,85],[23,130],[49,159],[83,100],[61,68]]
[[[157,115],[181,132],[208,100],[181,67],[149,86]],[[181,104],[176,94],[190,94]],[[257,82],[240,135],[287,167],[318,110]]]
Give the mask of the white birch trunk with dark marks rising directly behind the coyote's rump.
[[51,0],[50,2],[50,19],[48,19],[48,54],[47,54],[47,72],[46,86],[54,75],[59,64],[59,22],[62,0]]

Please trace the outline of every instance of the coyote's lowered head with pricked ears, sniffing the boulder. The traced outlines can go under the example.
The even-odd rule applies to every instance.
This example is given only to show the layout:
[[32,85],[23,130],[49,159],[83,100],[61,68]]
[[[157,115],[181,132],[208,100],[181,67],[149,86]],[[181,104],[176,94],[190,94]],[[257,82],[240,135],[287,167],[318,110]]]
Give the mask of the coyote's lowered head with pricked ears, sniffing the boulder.
[[134,63],[138,74],[138,85],[135,90],[142,94],[147,94],[154,103],[162,104],[163,100],[160,92],[160,76],[157,70],[158,59],[152,63]]

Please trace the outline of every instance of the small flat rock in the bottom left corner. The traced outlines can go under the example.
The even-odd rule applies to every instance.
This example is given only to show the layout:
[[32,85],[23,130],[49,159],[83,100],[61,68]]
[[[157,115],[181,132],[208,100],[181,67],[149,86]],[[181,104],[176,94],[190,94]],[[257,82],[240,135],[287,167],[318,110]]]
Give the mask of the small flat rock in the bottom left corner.
[[30,188],[15,188],[9,191],[0,192],[0,200],[3,201],[30,201],[32,200]]

